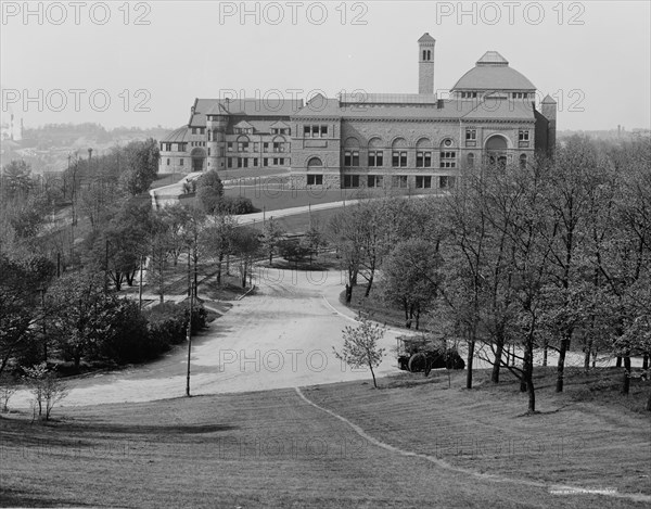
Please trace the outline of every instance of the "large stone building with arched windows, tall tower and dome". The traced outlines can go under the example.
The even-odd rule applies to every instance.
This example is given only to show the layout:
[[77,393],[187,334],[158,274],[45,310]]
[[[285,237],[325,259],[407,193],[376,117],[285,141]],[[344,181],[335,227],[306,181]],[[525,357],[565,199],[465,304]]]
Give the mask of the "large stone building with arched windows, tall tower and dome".
[[196,99],[161,141],[161,171],[279,167],[292,186],[446,189],[462,167],[526,165],[556,145],[557,103],[496,51],[434,94],[435,40],[419,41],[419,93],[303,101]]

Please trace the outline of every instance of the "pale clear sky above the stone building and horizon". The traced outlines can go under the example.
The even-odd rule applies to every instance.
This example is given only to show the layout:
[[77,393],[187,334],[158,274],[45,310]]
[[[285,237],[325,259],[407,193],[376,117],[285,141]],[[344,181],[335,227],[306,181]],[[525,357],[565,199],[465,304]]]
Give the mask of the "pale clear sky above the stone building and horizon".
[[649,128],[649,1],[2,1],[2,122],[176,128],[194,98],[444,94],[489,50],[559,103],[558,128]]

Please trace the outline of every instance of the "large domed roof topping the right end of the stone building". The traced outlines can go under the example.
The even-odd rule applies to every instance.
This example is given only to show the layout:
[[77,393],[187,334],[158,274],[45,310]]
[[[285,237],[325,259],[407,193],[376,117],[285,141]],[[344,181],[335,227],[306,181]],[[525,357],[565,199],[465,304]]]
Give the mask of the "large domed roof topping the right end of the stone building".
[[509,67],[497,51],[487,51],[476,65],[465,73],[452,90],[536,90],[524,75]]

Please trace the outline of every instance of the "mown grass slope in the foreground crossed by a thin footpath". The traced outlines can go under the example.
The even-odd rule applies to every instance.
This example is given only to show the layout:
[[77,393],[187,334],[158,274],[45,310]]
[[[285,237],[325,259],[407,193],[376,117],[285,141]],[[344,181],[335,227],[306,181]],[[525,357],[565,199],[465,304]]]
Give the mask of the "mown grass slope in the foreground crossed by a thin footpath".
[[597,397],[582,400],[587,380],[569,381],[559,396],[551,376],[539,376],[544,411],[523,417],[515,384],[463,391],[462,374],[451,389],[436,373],[382,379],[381,390],[355,382],[304,392],[386,444],[514,482],[378,447],[280,390],[56,408],[48,425],[2,417],[0,505],[623,508],[638,504],[527,482],[651,493],[640,387],[622,400],[601,376]]

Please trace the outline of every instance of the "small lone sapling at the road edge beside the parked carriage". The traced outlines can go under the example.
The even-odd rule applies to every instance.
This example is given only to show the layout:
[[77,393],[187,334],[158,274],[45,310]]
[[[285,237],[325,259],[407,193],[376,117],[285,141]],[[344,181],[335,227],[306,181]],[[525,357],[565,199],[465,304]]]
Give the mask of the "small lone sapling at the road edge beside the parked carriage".
[[373,386],[378,389],[374,368],[378,368],[384,356],[384,348],[378,346],[378,342],[384,336],[384,328],[367,318],[359,316],[360,322],[357,327],[347,326],[343,331],[344,346],[337,352],[334,346],[334,355],[353,368],[368,366],[373,377]]

